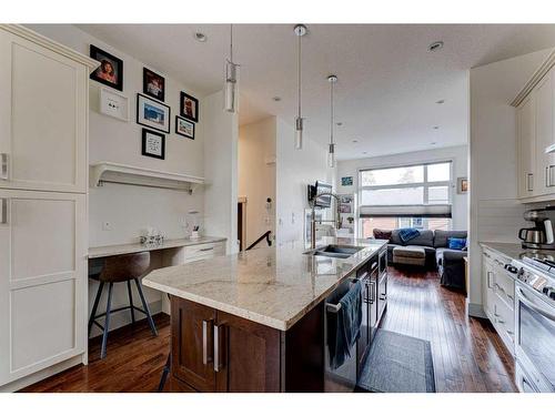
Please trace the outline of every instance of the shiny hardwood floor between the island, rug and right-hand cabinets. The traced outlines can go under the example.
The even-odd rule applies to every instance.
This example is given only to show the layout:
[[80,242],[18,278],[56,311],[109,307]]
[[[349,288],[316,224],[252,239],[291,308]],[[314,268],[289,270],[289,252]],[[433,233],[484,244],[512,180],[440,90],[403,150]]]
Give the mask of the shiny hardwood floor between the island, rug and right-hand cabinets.
[[382,327],[431,342],[437,392],[516,392],[511,353],[490,321],[466,315],[464,295],[435,272],[389,272]]

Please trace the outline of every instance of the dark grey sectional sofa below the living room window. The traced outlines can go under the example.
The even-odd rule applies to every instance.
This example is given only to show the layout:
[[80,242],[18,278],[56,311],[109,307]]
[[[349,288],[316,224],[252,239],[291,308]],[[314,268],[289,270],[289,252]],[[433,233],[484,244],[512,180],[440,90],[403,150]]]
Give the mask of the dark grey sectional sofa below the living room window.
[[[387,262],[390,264],[420,265],[437,270],[443,286],[465,290],[463,258],[467,252],[466,250],[450,248],[448,239],[467,239],[466,231],[423,230],[418,236],[404,243],[400,237],[398,230],[375,229],[374,237],[389,240]],[[411,255],[411,252],[414,255]]]

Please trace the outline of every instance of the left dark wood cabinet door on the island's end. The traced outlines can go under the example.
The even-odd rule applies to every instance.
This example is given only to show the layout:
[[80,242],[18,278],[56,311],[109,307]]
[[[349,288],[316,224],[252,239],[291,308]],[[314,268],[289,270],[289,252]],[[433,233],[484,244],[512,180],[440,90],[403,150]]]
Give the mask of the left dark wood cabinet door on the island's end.
[[172,374],[198,392],[215,392],[215,310],[172,296]]

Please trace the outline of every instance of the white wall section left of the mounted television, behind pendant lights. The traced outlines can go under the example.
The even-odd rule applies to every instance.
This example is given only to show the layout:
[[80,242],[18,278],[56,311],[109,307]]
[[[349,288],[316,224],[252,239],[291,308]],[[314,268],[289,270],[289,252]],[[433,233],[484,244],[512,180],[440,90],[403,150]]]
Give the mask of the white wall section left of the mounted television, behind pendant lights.
[[276,242],[283,244],[304,239],[306,185],[316,180],[333,180],[333,170],[326,165],[326,149],[304,138],[303,149],[295,150],[294,130],[283,120],[276,120]]

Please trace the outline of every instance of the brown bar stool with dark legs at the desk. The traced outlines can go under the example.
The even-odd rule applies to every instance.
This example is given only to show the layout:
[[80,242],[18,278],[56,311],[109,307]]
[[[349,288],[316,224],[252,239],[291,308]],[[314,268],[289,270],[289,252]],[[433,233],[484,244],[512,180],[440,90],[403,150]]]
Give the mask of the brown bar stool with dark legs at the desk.
[[[92,306],[91,317],[89,318],[89,336],[91,335],[92,325],[99,326],[102,334],[102,347],[100,351],[100,358],[105,357],[107,352],[107,342],[108,342],[108,332],[110,331],[110,315],[114,312],[130,310],[131,311],[131,322],[134,324],[135,314],[134,311],[139,311],[147,315],[147,321],[149,322],[150,329],[154,336],[158,335],[157,327],[154,326],[154,321],[152,321],[152,315],[150,314],[149,305],[144,300],[144,294],[142,293],[142,285],[140,278],[148,272],[150,266],[150,253],[133,253],[125,255],[118,255],[112,257],[107,257],[104,262],[104,267],[100,272],[100,274],[91,275],[90,277],[100,282],[99,290],[97,292],[97,296],[94,297],[94,304]],[[137,291],[139,292],[139,296],[142,302],[142,310],[133,305],[133,295],[131,293],[131,281],[135,282]],[[128,284],[128,296],[129,296],[129,306],[118,307],[112,310],[112,288],[114,283],[123,283]],[[108,283],[108,302],[105,313],[97,315],[97,308],[99,306],[100,297],[102,296],[102,290],[104,288],[104,284]],[[104,325],[100,325],[97,319],[105,316]]]

